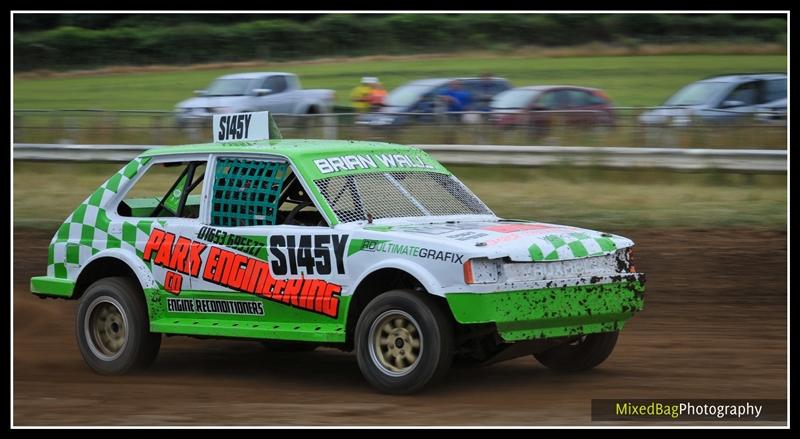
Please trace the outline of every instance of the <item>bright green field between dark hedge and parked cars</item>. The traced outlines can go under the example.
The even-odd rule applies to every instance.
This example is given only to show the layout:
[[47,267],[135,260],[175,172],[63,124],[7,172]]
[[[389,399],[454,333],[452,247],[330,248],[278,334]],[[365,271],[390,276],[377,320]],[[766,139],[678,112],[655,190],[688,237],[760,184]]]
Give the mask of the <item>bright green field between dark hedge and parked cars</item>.
[[[339,105],[349,105],[350,90],[365,75],[378,76],[387,89],[392,89],[413,79],[492,72],[508,78],[514,86],[574,84],[598,87],[608,92],[616,105],[654,106],[664,102],[681,86],[707,76],[787,70],[785,54],[708,54],[686,48],[683,52],[688,54],[681,55],[665,55],[663,50],[655,48],[624,49],[624,55],[597,47],[594,52],[552,50],[555,49],[539,54],[510,49],[459,55],[254,62],[208,68],[151,67],[144,71],[118,68],[98,70],[94,74],[24,74],[14,78],[14,108],[171,110],[179,101],[190,98],[193,90],[205,88],[218,76],[274,70],[298,74],[305,88],[336,90]],[[576,56],[576,53],[593,53],[595,56]],[[605,54],[611,55],[603,56]]]

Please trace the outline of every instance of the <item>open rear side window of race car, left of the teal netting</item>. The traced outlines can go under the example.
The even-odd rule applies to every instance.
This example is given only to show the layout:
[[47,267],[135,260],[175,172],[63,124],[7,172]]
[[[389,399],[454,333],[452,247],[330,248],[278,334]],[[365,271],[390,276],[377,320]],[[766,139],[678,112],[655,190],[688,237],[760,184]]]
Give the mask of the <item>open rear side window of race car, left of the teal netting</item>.
[[117,206],[117,214],[141,218],[197,218],[206,162],[150,166]]

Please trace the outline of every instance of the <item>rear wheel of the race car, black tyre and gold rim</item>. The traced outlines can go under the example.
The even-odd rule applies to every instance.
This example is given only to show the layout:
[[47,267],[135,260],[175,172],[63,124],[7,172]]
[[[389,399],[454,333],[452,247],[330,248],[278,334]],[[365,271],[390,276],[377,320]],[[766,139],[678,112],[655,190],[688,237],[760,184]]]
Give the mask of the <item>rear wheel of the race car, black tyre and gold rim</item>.
[[89,286],[78,305],[75,332],[84,361],[103,375],[145,369],[161,347],[161,334],[150,332],[139,285],[126,277]]

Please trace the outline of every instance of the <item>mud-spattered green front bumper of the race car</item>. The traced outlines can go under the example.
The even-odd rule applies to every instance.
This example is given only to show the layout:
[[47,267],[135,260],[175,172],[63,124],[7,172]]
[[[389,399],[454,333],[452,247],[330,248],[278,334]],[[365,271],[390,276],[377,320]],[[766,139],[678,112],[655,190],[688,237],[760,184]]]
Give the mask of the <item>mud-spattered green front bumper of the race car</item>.
[[618,331],[644,307],[644,275],[620,282],[446,294],[456,321],[495,323],[508,342]]

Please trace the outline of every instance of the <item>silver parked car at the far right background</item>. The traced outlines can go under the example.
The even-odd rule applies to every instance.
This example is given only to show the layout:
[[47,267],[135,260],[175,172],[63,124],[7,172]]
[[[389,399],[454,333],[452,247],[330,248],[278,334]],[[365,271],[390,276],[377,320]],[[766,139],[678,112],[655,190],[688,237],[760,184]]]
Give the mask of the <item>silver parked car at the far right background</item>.
[[746,73],[693,82],[663,106],[639,116],[644,124],[688,125],[692,119],[730,121],[742,116],[786,114],[786,74]]

